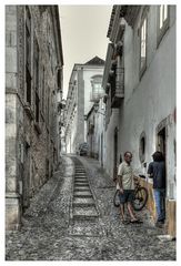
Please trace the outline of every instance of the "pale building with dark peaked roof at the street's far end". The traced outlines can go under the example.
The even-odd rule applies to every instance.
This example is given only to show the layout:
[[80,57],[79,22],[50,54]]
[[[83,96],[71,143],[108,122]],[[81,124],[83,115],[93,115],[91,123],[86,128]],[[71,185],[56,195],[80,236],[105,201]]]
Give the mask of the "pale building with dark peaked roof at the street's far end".
[[103,93],[101,88],[103,66],[104,61],[98,57],[73,66],[64,111],[67,153],[78,153],[79,145],[88,141],[86,117],[93,105],[93,98],[99,98],[99,93]]

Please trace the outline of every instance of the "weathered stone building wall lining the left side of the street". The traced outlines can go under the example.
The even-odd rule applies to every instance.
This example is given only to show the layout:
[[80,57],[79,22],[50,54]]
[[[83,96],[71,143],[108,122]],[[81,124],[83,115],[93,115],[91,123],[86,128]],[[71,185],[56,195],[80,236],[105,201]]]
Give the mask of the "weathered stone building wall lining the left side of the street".
[[[27,103],[26,8],[31,16],[31,103]],[[57,65],[63,63],[59,18],[51,6],[6,7],[6,213],[7,228],[20,224],[31,197],[58,164]],[[57,31],[56,31],[56,28]],[[34,41],[39,47],[39,110],[36,102]],[[44,70],[44,75],[43,75]],[[36,119],[36,109],[39,117]]]

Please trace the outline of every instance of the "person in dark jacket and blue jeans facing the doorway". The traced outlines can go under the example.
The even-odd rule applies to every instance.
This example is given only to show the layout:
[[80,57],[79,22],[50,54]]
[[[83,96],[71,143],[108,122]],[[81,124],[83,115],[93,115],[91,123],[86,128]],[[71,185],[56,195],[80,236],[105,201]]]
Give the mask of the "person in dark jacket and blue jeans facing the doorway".
[[149,164],[148,175],[153,178],[153,193],[157,208],[155,226],[161,227],[165,219],[165,163],[161,152],[154,152]]

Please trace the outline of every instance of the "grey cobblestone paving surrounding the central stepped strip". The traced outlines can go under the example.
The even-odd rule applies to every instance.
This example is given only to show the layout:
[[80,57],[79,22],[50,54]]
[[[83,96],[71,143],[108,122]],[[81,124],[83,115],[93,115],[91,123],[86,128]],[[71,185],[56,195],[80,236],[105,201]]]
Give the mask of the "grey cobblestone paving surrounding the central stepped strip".
[[[112,204],[114,184],[98,161],[79,157],[89,176],[99,221],[90,234],[72,234],[70,206],[73,162],[63,157],[61,171],[41,188],[23,217],[23,226],[6,236],[7,260],[175,260],[175,242],[160,241],[147,209],[143,224],[123,225]],[[91,222],[89,227],[91,227]],[[94,234],[93,234],[94,232]]]

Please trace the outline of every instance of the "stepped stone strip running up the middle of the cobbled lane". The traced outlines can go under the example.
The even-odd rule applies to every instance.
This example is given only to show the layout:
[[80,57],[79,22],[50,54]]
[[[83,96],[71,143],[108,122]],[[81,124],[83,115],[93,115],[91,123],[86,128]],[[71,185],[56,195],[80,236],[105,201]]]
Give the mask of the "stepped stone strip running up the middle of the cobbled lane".
[[101,233],[99,212],[95,206],[86,170],[78,158],[72,157],[72,160],[74,162],[74,178],[69,235],[99,236]]

